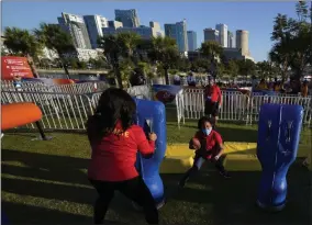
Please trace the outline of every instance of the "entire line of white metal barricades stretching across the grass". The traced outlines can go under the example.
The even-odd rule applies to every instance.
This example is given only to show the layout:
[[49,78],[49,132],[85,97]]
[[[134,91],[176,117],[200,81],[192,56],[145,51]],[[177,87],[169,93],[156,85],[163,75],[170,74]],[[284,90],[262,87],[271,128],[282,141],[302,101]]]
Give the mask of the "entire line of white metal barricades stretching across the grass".
[[[93,113],[101,92],[92,94],[1,91],[1,104],[34,102],[43,112],[44,130],[83,131],[88,115]],[[304,109],[303,123],[311,125],[312,99],[301,97],[249,95],[238,91],[223,92],[220,109],[221,121],[243,121],[252,124],[258,121],[264,103],[300,104]],[[176,95],[178,125],[186,119],[198,120],[204,114],[203,89],[185,89]],[[22,112],[21,112],[22,113]],[[21,128],[35,128],[30,124]]]

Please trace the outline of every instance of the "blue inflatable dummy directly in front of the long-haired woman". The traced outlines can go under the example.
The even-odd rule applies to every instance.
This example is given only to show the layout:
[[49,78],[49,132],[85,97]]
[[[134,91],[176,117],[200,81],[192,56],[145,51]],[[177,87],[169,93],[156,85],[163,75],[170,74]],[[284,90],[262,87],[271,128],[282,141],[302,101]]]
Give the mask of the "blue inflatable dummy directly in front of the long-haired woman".
[[159,176],[159,166],[167,148],[166,110],[159,101],[135,99],[136,120],[146,134],[154,132],[157,135],[155,154],[151,158],[137,155],[136,168],[143,177],[158,207],[164,204],[164,184]]

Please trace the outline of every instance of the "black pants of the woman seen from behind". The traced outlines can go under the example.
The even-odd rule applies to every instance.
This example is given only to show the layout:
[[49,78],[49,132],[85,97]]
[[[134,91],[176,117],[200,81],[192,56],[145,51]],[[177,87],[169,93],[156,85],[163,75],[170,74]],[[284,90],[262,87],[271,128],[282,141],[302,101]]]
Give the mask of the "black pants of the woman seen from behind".
[[142,177],[120,182],[96,180],[90,180],[90,182],[99,193],[99,198],[94,204],[94,224],[103,223],[115,191],[120,191],[126,198],[141,205],[148,224],[158,224],[158,211],[154,198]]

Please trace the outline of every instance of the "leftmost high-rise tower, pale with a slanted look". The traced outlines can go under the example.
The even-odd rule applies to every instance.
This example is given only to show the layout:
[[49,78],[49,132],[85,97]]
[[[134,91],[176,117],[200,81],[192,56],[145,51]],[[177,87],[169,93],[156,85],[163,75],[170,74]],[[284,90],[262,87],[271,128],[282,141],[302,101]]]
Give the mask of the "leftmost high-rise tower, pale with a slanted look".
[[88,30],[81,16],[63,12],[57,20],[59,26],[71,35],[75,47],[91,48]]

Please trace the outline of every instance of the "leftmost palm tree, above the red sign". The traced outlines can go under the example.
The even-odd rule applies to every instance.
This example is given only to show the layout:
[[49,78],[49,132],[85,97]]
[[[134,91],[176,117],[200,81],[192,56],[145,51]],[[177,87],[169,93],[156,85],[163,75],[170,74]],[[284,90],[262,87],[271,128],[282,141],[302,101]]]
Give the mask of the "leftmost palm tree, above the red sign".
[[33,59],[37,59],[43,46],[36,41],[35,36],[27,30],[5,27],[4,37],[3,44],[10,54],[26,57],[34,77],[40,77]]

